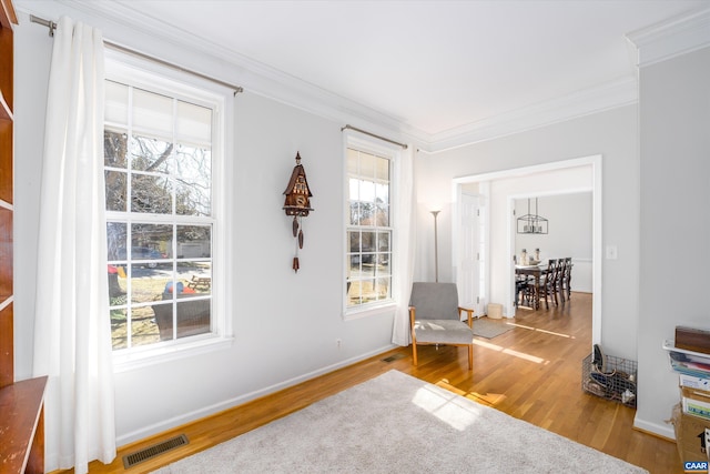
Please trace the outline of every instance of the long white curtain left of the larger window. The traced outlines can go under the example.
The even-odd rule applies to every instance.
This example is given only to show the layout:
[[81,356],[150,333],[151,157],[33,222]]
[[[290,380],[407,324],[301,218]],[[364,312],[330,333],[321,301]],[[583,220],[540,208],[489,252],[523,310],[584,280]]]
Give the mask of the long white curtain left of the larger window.
[[40,200],[34,375],[49,375],[45,471],[115,457],[103,181],[103,39],[59,21]]

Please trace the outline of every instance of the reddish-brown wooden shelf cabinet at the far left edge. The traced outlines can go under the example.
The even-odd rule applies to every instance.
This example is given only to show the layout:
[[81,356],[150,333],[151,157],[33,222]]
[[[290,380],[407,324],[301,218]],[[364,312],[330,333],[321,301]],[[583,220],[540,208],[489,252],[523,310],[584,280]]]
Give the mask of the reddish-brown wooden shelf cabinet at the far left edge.
[[14,381],[12,218],[14,214],[13,26],[11,0],[0,0],[0,472],[44,472],[47,377]]

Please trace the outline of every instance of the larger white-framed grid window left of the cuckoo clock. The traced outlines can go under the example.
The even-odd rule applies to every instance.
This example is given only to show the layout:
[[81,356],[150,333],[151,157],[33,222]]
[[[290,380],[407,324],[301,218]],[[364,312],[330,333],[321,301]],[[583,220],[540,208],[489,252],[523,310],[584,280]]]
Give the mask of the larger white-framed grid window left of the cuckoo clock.
[[[115,71],[111,73],[111,71]],[[104,175],[114,353],[222,335],[224,93],[108,68]]]

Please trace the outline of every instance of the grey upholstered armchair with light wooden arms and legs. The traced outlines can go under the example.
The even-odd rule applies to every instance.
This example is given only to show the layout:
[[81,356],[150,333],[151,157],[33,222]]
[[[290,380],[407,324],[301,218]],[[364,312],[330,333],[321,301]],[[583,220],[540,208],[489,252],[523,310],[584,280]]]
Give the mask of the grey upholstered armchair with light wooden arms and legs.
[[[462,312],[468,313],[468,324]],[[417,365],[417,344],[468,346],[468,369],[474,369],[474,310],[458,306],[455,283],[414,283],[409,297],[412,356]]]

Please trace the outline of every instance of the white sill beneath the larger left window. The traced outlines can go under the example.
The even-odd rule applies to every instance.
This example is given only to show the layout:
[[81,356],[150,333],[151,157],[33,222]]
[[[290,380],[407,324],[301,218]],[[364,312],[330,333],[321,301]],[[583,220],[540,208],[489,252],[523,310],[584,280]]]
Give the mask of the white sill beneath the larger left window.
[[196,336],[190,342],[179,344],[155,344],[155,346],[132,350],[130,353],[125,354],[113,354],[113,372],[129,372],[150,365],[162,364],[169,361],[176,361],[184,357],[192,357],[197,354],[220,351],[231,347],[233,343],[233,336],[207,334],[202,337]]

